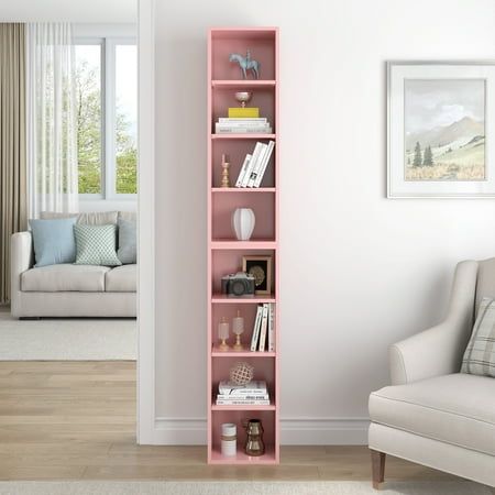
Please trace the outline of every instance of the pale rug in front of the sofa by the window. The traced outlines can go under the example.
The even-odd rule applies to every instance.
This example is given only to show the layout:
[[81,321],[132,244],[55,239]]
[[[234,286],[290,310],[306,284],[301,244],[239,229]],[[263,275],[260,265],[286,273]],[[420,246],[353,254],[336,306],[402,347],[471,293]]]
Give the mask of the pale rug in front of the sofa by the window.
[[0,311],[0,361],[135,360],[133,319],[18,320]]

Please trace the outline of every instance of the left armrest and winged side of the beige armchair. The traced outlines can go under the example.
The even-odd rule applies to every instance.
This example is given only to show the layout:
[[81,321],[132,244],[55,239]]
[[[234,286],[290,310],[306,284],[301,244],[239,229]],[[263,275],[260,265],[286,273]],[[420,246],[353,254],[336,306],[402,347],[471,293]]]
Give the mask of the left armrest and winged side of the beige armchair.
[[458,373],[473,327],[477,263],[459,263],[446,320],[391,345],[393,385]]

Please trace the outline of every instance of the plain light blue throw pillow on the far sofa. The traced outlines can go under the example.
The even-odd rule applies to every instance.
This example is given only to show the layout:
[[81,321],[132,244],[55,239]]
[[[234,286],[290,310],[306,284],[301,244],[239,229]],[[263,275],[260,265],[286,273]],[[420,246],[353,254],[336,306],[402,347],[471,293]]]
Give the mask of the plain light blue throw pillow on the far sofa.
[[30,220],[36,260],[34,266],[76,261],[76,240],[74,238],[76,220],[77,218]]

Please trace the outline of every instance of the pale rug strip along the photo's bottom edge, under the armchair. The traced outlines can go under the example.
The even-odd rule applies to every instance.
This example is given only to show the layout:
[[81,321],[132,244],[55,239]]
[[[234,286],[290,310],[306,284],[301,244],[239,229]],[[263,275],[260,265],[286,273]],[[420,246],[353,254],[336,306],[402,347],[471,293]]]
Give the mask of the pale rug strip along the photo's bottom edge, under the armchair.
[[0,482],[0,495],[491,495],[471,482]]

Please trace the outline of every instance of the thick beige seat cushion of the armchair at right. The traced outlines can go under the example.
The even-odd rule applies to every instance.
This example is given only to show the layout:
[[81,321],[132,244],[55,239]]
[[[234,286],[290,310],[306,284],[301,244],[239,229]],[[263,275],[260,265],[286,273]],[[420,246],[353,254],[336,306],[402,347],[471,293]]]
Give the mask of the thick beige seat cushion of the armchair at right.
[[495,455],[495,380],[462,373],[382,388],[371,420]]

